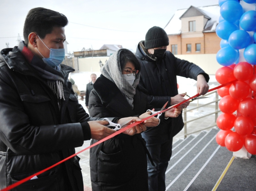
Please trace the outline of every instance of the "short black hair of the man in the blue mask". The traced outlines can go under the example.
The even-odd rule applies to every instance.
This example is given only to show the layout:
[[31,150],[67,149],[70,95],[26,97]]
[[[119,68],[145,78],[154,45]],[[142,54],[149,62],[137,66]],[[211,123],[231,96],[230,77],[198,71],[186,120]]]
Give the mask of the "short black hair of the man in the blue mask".
[[42,7],[33,8],[28,12],[24,23],[25,44],[28,44],[28,35],[31,32],[35,32],[43,39],[46,34],[52,33],[53,27],[65,27],[67,23],[68,20],[64,14]]

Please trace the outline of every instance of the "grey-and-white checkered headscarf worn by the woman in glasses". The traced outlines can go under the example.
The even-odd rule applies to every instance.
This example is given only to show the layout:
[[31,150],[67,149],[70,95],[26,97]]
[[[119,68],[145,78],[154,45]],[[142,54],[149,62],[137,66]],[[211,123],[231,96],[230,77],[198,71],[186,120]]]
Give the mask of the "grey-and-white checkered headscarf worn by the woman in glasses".
[[[100,71],[103,76],[111,80],[117,85],[117,88],[121,91],[121,93],[125,96],[129,105],[133,109],[133,97],[135,95],[135,88],[139,84],[140,73],[136,75],[136,79],[133,82],[133,85],[130,85],[126,79],[123,77],[122,68],[120,65],[120,52],[122,49],[117,50],[114,54],[112,54],[106,64],[101,67]],[[126,49],[127,50],[127,49]]]

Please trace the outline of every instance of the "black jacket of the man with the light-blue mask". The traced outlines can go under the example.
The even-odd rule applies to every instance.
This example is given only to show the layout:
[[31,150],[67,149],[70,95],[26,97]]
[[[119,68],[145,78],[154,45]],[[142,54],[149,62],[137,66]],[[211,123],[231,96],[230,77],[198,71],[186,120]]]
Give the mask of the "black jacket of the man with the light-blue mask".
[[[83,145],[80,122],[90,118],[67,80],[73,68],[62,65],[64,97],[57,100],[46,81],[36,75],[21,52],[0,55],[0,187],[5,188],[75,153]],[[79,157],[73,157],[14,190],[83,190]]]

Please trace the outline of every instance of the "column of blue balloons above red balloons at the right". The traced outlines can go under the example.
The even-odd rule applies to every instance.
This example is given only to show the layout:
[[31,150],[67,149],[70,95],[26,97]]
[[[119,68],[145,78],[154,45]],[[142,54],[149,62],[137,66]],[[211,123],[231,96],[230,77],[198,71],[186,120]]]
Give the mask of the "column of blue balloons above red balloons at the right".
[[[217,118],[216,141],[229,151],[256,154],[256,0],[219,0],[216,34],[222,40],[216,58],[217,90],[223,112]],[[236,112],[236,114],[233,114]],[[235,131],[231,130],[234,127]],[[244,147],[243,147],[244,146]]]

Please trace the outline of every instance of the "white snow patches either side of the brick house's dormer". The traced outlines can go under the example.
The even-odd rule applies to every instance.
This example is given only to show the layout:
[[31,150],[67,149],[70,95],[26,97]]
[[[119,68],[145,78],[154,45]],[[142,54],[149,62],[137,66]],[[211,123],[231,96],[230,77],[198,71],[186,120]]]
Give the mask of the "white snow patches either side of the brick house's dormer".
[[[197,9],[201,10],[205,15],[209,16],[211,19],[208,20],[204,27],[204,32],[213,32],[216,30],[216,26],[219,23],[220,17],[220,6],[219,5],[211,5],[205,7],[197,7]],[[180,17],[187,11],[188,9],[180,9],[176,10],[173,17],[170,19],[168,24],[164,27],[164,30],[167,34],[181,34],[181,20]]]

